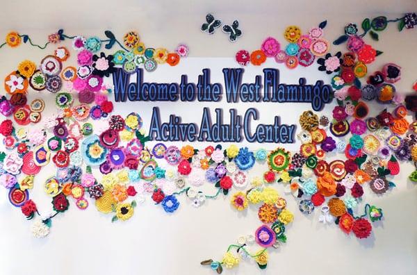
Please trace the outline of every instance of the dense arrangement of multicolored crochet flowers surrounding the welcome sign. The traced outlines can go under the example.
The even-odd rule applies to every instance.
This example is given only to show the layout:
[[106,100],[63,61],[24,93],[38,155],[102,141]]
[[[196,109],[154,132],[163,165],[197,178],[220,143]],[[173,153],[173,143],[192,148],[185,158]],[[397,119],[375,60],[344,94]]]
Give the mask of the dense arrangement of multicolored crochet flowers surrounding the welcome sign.
[[[407,28],[415,26],[409,23],[409,16],[399,21],[407,21]],[[384,20],[378,20],[369,26],[366,21],[362,24],[365,35],[371,28],[373,33],[380,31]],[[163,49],[145,48],[135,32],[124,36],[124,44],[108,31],[106,40],[70,37],[62,30],[50,35],[47,44],[65,38],[73,41],[78,65],[65,67],[72,53],[58,47],[38,65],[24,60],[5,78],[7,95],[0,100],[0,112],[6,117],[0,124],[5,149],[0,153],[0,184],[8,189],[10,203],[27,219],[35,219],[33,235],[43,238],[49,234],[51,219],[64,213],[71,203],[80,210],[94,205],[101,213],[112,213],[112,222],[116,222],[130,219],[138,203],[148,196],[166,213],[174,213],[183,194],[198,208],[209,199],[233,192],[229,195],[231,206],[238,211],[256,208],[260,226],[231,244],[222,260],[202,262],[219,274],[223,267],[234,267],[247,258],[253,258],[264,269],[268,249],[286,242],[285,232],[293,213],[275,189],[277,184],[293,194],[302,213],[308,215],[320,207],[320,222],[336,224],[357,238],[368,238],[372,223],[379,222],[383,212],[366,203],[362,215],[358,208],[363,189],[370,188],[376,194],[389,192],[395,188],[393,178],[400,173],[399,163],[417,161],[417,122],[410,117],[410,112],[416,112],[417,97],[404,99],[395,92],[401,68],[394,63],[368,76],[366,85],[362,85],[361,79],[368,75],[367,66],[375,60],[377,51],[363,42],[364,35],[357,35],[354,24],[349,24],[345,28],[347,38],[343,36],[334,43],[341,44],[345,39],[348,51],[332,56],[329,43],[322,38],[325,25],[322,22],[308,35],[302,35],[296,26],[288,27],[285,38],[290,44],[285,54],[277,40],[268,38],[261,50],[250,55],[254,65],[268,56],[278,63],[284,60],[289,67],[312,65],[317,58],[318,69],[332,76],[337,105],[332,115],[312,111],[300,115],[297,138],[301,146],[297,152],[281,147],[251,151],[235,144],[225,149],[220,144],[202,149],[191,144],[181,148],[163,143],[149,146],[140,114],[122,117],[114,112],[109,99],[113,88],[104,84],[104,78],[110,77],[115,67],[132,73],[141,66],[152,72],[164,60],[176,65],[177,56],[174,62]],[[10,47],[22,41],[33,44],[28,35],[16,32],[6,38]],[[113,55],[99,53],[103,42],[107,42],[106,49],[116,43],[124,50]],[[188,47],[180,45],[173,54],[182,57],[187,52]],[[247,53],[236,56],[242,65],[247,64],[247,58]],[[51,92],[55,115],[42,117],[45,103],[42,99],[29,102],[27,94],[35,94],[32,90]],[[384,110],[375,116],[370,116],[366,104],[371,100],[384,104]],[[97,127],[97,121],[106,127]],[[334,159],[334,152],[343,158]],[[44,183],[36,182],[42,167],[51,163],[56,166],[56,174]],[[250,175],[255,163],[268,164],[268,168],[265,165],[260,176]],[[409,179],[416,182],[417,172]],[[44,186],[53,211],[40,215],[30,199],[34,184]],[[211,185],[213,192],[202,191],[202,185]],[[251,252],[252,244],[261,249]]]

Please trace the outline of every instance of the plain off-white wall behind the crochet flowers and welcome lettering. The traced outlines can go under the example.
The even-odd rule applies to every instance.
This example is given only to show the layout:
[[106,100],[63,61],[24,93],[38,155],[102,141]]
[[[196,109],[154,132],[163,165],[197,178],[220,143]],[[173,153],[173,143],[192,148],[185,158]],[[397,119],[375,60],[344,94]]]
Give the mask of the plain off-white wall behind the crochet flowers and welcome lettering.
[[[190,46],[190,56],[195,57],[181,60],[179,67],[161,66],[149,76],[149,80],[177,81],[179,75],[184,73],[183,68],[188,67],[190,71],[196,68],[194,73],[189,74],[189,81],[196,81],[192,75],[197,75],[201,67],[211,63],[207,67],[218,68],[216,71],[220,75],[221,67],[234,65],[232,57],[238,49],[257,49],[268,35],[286,44],[281,33],[291,24],[307,30],[327,19],[325,37],[332,41],[343,32],[343,26],[348,22],[360,24],[364,17],[382,14],[395,18],[402,12],[417,10],[416,1],[222,2],[124,0],[105,6],[103,1],[8,1],[2,3],[0,11],[0,37],[16,30],[30,34],[34,41],[43,42],[49,33],[64,28],[68,35],[95,34],[100,37],[103,37],[101,33],[104,30],[111,29],[120,38],[126,31],[136,29],[147,45],[173,49],[179,42],[186,42]],[[230,44],[220,30],[211,36],[201,33],[198,28],[208,11],[224,22],[239,19],[243,38],[236,44]],[[412,83],[416,81],[416,31],[398,33],[393,25],[381,33],[379,42],[372,42],[384,54],[370,66],[370,71],[388,62],[401,65],[402,80],[396,85],[401,92],[411,90]],[[6,76],[26,58],[38,63],[53,49],[48,47],[42,51],[26,45],[17,49],[1,49],[0,75]],[[335,50],[336,47],[333,47],[332,52]],[[207,59],[202,65],[199,58],[208,57],[227,58]],[[216,62],[218,64],[213,64]],[[70,63],[75,64],[74,56],[67,61],[67,64]],[[252,69],[248,70],[248,74],[253,76],[256,72]],[[283,74],[281,81],[285,83],[295,83],[300,76],[306,76],[311,81],[326,78],[313,68],[293,72],[282,66],[279,69]],[[214,71],[212,69],[213,81],[216,77]],[[218,77],[218,81],[222,81],[221,75]],[[248,77],[248,80],[252,78]],[[33,98],[31,95],[30,99]],[[47,101],[51,106],[51,98]],[[116,110],[121,110],[126,104],[117,104]],[[176,104],[176,110],[185,106],[183,104]],[[163,110],[163,103],[158,105]],[[199,103],[197,110],[201,110],[202,106],[206,104]],[[216,106],[224,109],[231,107],[224,103]],[[131,109],[136,107],[133,104],[129,106]],[[152,103],[140,107],[147,127]],[[245,110],[247,107],[237,108]],[[283,123],[297,123],[297,115],[304,107],[291,109],[293,113],[285,121],[283,119]],[[277,115],[283,115],[286,110],[276,111]],[[373,111],[376,113],[377,109]],[[161,118],[167,117],[170,110],[165,109],[164,112]],[[128,113],[128,110],[123,113]],[[265,114],[261,112],[261,116]],[[182,111],[181,115],[188,122],[199,122],[200,113],[198,119],[191,118],[187,111]],[[268,121],[270,119],[265,115],[265,122]],[[256,144],[251,144],[251,147],[256,148]],[[265,166],[258,165],[250,174],[260,175],[265,169]],[[401,169],[401,174],[394,181],[398,188],[382,197],[365,188],[364,201],[383,208],[385,216],[384,222],[373,229],[373,235],[368,240],[359,241],[352,235],[347,237],[337,226],[322,226],[318,222],[318,210],[310,216],[302,215],[293,197],[286,196],[288,208],[295,213],[295,221],[287,228],[288,244],[277,251],[270,250],[270,263],[265,271],[259,272],[254,263],[241,263],[238,269],[227,270],[227,274],[416,274],[417,190],[407,180],[412,165],[402,165]],[[51,207],[43,191],[42,179],[53,174],[54,170],[52,166],[45,170],[36,178],[35,188],[31,191],[40,209]],[[284,194],[282,186],[276,186]],[[5,196],[3,194],[2,197]],[[51,234],[44,240],[33,239],[31,222],[26,222],[20,210],[6,202],[0,205],[0,274],[213,274],[211,270],[200,267],[199,262],[205,258],[221,259],[227,246],[236,242],[239,235],[253,233],[259,226],[256,208],[236,213],[229,199],[230,196],[206,201],[202,208],[195,209],[190,201],[181,198],[181,208],[173,215],[167,215],[148,198],[144,205],[136,208],[135,215],[128,222],[113,224],[111,215],[98,213],[92,203],[85,211],[73,206],[53,220]]]

